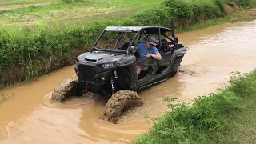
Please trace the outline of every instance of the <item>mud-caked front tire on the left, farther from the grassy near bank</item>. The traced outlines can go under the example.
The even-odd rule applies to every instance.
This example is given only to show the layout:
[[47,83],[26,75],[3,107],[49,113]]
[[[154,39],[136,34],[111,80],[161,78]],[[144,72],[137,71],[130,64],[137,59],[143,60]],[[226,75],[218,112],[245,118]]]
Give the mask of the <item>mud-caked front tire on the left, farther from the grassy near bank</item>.
[[71,94],[74,94],[76,84],[78,83],[78,78],[68,78],[60,82],[58,86],[55,87],[52,93],[51,100],[53,102],[62,102]]

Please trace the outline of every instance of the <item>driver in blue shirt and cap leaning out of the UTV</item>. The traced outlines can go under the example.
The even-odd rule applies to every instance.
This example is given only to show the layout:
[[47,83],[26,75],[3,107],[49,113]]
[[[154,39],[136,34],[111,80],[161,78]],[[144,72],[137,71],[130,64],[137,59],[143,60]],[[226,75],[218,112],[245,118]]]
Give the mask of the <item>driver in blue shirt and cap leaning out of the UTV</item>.
[[[135,53],[137,51],[140,54],[140,58],[153,57],[156,60],[162,60],[162,56],[159,53],[158,49],[155,47],[157,45],[157,41],[155,38],[150,37],[146,43],[139,43],[136,47],[130,46],[131,52]],[[137,67],[137,75],[141,73],[143,67]]]

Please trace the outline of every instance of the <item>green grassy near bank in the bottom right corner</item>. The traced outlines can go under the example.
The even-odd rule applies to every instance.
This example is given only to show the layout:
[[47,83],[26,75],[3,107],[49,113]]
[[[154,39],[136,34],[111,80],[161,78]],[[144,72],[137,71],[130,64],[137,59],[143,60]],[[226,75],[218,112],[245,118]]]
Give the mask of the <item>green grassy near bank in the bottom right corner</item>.
[[254,143],[256,70],[233,73],[218,93],[195,98],[192,106],[172,104],[150,131],[133,143]]

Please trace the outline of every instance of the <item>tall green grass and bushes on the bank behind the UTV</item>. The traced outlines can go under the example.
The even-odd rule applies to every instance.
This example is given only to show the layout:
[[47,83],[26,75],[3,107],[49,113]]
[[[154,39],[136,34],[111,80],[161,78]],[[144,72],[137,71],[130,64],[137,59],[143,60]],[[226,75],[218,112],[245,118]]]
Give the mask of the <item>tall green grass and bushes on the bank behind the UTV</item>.
[[[106,26],[167,26],[194,30],[238,18],[239,10],[253,8],[256,0],[166,0],[150,10],[129,17],[93,22],[47,22],[36,26],[0,26],[0,88],[47,74],[63,66],[93,45]],[[252,16],[254,17],[254,16]]]

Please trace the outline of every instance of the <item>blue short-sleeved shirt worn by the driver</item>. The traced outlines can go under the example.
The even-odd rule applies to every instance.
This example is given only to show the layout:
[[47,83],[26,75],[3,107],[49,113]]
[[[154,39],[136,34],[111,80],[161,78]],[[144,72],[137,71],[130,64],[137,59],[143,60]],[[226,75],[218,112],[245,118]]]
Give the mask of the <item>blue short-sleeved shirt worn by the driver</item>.
[[146,58],[147,54],[158,54],[159,51],[156,47],[152,46],[151,49],[146,48],[146,43],[139,43],[135,50],[140,54],[140,58]]

